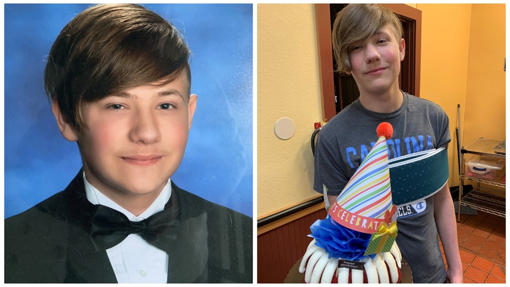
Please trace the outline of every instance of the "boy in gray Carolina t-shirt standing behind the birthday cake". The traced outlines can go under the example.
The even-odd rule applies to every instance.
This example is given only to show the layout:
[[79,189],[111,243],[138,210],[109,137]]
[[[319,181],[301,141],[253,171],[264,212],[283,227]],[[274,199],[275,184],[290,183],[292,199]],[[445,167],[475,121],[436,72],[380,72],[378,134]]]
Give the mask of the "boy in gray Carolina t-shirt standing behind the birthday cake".
[[[370,151],[381,122],[393,126],[389,158],[447,147],[448,116],[440,106],[399,89],[405,43],[399,18],[376,4],[350,4],[338,13],[333,49],[339,73],[353,76],[360,97],[324,126],[315,149],[314,189],[334,202]],[[398,210],[397,244],[415,283],[462,283],[453,202],[448,184]],[[446,270],[438,233],[444,247]]]

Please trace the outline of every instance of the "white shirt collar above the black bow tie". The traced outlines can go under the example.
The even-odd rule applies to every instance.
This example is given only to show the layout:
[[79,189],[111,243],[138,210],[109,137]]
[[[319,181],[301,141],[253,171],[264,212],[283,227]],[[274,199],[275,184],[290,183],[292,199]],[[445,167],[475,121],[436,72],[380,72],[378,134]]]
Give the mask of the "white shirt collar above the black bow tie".
[[122,212],[129,220],[131,221],[141,221],[148,217],[150,217],[152,214],[157,213],[165,208],[165,204],[170,199],[170,196],[172,194],[172,188],[170,184],[170,179],[168,179],[168,182],[163,187],[163,190],[161,190],[160,195],[156,198],[154,202],[147,208],[145,211],[142,212],[139,216],[135,216],[135,214],[131,213],[130,211],[127,211],[122,206],[115,203],[113,200],[102,194],[97,188],[92,186],[87,181],[87,178],[85,176],[85,172],[83,172],[83,181],[85,182],[85,194],[87,196],[87,200],[96,205],[101,204],[104,206],[108,206],[110,208],[113,208],[117,211]]

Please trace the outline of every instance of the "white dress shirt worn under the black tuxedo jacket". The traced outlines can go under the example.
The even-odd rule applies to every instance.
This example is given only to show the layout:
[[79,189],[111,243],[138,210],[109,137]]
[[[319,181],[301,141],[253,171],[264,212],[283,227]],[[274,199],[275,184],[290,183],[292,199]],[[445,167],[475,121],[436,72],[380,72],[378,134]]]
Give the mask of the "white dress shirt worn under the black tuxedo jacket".
[[[172,188],[170,179],[161,194],[140,216],[135,216],[92,186],[83,173],[85,194],[92,204],[101,204],[118,210],[131,221],[142,221],[152,214],[163,210],[170,199]],[[166,283],[168,275],[168,254],[143,240],[138,234],[130,234],[124,241],[107,249],[119,283]]]

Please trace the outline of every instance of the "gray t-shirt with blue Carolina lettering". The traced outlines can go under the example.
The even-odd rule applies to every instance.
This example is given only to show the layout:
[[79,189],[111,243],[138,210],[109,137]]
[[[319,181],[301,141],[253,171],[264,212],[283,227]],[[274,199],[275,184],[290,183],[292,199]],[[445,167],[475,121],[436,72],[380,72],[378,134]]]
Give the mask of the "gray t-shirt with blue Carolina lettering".
[[[393,136],[387,140],[390,159],[419,151],[447,147],[451,140],[448,116],[424,99],[403,93],[392,113],[365,109],[360,100],[344,108],[324,125],[315,148],[314,189],[339,195],[377,141],[377,126],[388,122]],[[398,236],[402,257],[409,263],[415,283],[443,283],[446,268],[439,248],[433,199],[398,208]]]

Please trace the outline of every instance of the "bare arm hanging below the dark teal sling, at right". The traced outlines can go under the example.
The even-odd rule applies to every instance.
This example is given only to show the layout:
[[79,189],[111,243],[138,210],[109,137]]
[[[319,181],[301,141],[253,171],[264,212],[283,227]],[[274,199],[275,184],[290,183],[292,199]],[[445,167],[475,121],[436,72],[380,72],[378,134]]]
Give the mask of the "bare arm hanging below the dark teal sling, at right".
[[448,183],[433,197],[434,218],[448,264],[447,283],[462,283],[462,262],[458,251],[457,223]]

